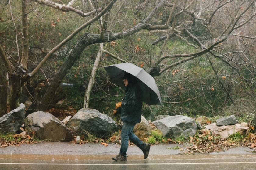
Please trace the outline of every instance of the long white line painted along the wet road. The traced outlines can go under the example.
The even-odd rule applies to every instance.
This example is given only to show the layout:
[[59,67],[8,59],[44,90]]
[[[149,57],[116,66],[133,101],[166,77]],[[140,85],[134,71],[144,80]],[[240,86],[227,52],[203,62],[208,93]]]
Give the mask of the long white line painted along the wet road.
[[195,162],[195,163],[141,163],[141,164],[57,164],[57,163],[0,163],[0,165],[200,165],[200,164],[256,164],[256,162]]

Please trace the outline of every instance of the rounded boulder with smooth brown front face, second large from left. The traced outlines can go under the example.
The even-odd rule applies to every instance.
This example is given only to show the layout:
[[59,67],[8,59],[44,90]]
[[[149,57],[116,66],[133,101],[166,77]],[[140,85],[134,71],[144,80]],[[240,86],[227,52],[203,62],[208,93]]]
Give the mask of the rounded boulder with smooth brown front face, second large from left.
[[37,111],[25,119],[25,131],[34,131],[36,136],[47,141],[70,141],[72,132],[56,117],[48,112]]

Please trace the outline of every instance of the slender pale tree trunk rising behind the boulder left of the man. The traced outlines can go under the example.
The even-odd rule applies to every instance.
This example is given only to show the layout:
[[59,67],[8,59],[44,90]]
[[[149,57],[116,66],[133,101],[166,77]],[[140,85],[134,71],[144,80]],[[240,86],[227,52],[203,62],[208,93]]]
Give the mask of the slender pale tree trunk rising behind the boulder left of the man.
[[94,84],[94,78],[98,69],[98,66],[100,64],[100,60],[101,60],[101,56],[102,56],[102,49],[103,49],[103,43],[100,43],[99,46],[99,51],[97,54],[97,57],[95,59],[92,71],[91,71],[91,77],[87,86],[87,90],[85,91],[85,95],[84,95],[84,108],[89,108],[89,99],[90,99],[90,93],[91,93],[91,89],[93,87]]

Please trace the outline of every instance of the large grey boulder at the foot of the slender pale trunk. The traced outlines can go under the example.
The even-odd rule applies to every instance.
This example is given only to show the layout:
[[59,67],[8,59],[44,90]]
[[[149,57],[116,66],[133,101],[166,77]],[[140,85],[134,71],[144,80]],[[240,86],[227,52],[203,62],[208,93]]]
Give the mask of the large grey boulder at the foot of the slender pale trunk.
[[67,123],[67,127],[76,134],[93,134],[98,138],[106,138],[112,132],[118,130],[116,122],[106,114],[100,113],[95,109],[80,109]]

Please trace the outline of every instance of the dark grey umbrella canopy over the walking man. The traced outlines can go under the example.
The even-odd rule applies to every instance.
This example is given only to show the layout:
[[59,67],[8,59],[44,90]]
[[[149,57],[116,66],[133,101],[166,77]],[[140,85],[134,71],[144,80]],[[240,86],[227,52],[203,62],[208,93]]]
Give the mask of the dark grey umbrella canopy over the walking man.
[[131,75],[137,77],[139,80],[138,84],[140,85],[143,93],[143,101],[148,105],[162,105],[160,93],[155,83],[155,79],[144,69],[135,66],[132,63],[114,64],[105,66],[104,68],[108,72],[110,80],[122,88],[125,87],[122,78],[125,73],[130,73]]

